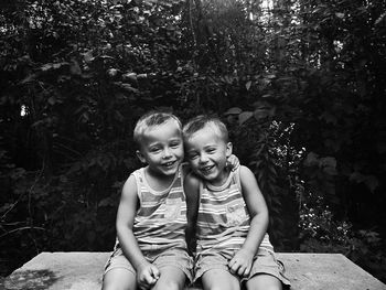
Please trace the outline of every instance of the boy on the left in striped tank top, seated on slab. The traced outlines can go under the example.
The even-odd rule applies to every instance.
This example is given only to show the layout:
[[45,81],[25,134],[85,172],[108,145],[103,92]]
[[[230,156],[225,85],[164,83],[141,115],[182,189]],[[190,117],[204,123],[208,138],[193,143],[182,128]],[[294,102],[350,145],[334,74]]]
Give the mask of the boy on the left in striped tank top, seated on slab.
[[150,112],[137,122],[133,138],[147,167],[124,185],[103,289],[183,289],[193,265],[184,233],[182,126],[174,115]]

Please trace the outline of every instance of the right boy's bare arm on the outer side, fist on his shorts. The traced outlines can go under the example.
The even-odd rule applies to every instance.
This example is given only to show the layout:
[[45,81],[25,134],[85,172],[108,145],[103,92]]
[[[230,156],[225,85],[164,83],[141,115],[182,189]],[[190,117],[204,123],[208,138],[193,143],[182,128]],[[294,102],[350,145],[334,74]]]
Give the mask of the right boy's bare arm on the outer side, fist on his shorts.
[[245,203],[250,216],[248,235],[243,247],[229,261],[233,272],[247,276],[250,272],[253,257],[257,253],[268,227],[268,208],[254,173],[240,167],[240,183]]

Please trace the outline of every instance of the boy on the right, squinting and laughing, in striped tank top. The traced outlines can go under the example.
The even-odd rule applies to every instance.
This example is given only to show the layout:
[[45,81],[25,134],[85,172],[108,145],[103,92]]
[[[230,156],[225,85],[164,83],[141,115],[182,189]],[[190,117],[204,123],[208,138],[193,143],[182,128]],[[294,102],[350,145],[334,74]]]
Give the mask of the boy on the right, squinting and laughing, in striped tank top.
[[[281,289],[290,284],[266,234],[268,210],[246,167],[226,168],[232,143],[217,118],[199,116],[183,128],[194,174],[185,178],[189,233],[196,232],[194,280],[204,290]],[[192,234],[190,234],[192,235]]]

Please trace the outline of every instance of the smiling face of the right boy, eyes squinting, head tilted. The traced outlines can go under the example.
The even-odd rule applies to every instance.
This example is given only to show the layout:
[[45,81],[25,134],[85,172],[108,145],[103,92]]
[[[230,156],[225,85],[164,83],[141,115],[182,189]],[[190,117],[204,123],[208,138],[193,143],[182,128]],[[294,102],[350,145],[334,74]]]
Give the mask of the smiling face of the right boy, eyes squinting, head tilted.
[[226,160],[232,154],[232,143],[225,142],[213,128],[205,126],[185,141],[189,162],[196,174],[214,185],[227,179]]

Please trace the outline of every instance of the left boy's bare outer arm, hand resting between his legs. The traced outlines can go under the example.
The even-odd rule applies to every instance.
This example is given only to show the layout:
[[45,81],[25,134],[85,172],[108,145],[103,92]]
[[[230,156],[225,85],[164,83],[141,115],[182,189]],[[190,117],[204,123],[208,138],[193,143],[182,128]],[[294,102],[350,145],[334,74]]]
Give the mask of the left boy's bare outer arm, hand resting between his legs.
[[159,270],[144,258],[132,233],[137,204],[137,183],[135,176],[130,175],[122,189],[116,225],[119,245],[125,256],[137,270],[138,283],[142,288],[143,286],[156,283]]

